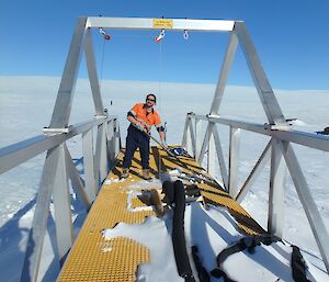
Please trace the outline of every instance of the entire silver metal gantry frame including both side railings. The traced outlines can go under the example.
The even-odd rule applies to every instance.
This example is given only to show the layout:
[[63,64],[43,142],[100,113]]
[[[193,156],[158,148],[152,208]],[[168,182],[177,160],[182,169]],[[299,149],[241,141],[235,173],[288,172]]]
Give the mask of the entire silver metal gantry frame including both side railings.
[[[107,116],[103,109],[99,78],[92,45],[93,29],[118,30],[166,30],[195,32],[230,33],[228,47],[222,65],[218,83],[209,113],[186,116],[182,145],[189,148],[200,163],[207,156],[207,169],[216,170],[214,157],[217,155],[223,187],[230,195],[241,202],[264,166],[270,161],[269,219],[270,233],[283,236],[284,185],[288,170],[298,196],[306,212],[311,230],[319,246],[326,268],[329,271],[328,232],[313,200],[311,193],[302,172],[291,143],[310,148],[329,150],[329,139],[314,134],[292,131],[275,99],[274,91],[262,68],[256,48],[247,32],[245,22],[226,20],[189,20],[189,19],[127,19],[127,18],[80,18],[78,20],[65,69],[63,72],[57,100],[54,106],[50,125],[45,134],[0,149],[0,173],[16,167],[25,160],[46,151],[44,170],[33,224],[25,252],[21,281],[36,281],[41,262],[43,239],[46,230],[49,204],[53,198],[56,216],[56,233],[59,259],[63,259],[72,245],[71,211],[69,204],[69,181],[76,189],[79,199],[88,210],[95,199],[100,184],[105,179],[111,163],[115,161],[121,148],[118,123],[115,116]],[[228,72],[231,68],[236,49],[240,44],[256,89],[268,117],[268,125],[220,117],[219,106],[225,92]],[[94,102],[95,116],[92,121],[69,125],[75,87],[78,78],[82,53],[86,55],[88,75]],[[207,128],[201,143],[201,122],[206,121]],[[225,163],[220,136],[216,124],[229,126],[229,160]],[[93,128],[97,140],[93,142]],[[251,170],[245,183],[238,185],[239,148],[241,131],[249,131],[270,136],[270,142]],[[76,135],[82,136],[84,181],[80,178],[66,140]],[[95,146],[95,153],[93,147]]]

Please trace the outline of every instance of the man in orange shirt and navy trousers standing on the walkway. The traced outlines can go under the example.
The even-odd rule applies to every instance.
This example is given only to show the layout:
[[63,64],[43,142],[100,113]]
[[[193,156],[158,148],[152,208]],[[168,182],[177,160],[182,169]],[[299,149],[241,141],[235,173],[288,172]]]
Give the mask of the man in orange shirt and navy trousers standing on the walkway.
[[137,148],[140,151],[143,178],[150,180],[149,176],[149,134],[151,126],[155,125],[159,132],[161,143],[167,147],[164,142],[164,127],[161,124],[159,114],[154,106],[157,102],[155,94],[149,93],[145,103],[137,103],[127,113],[127,120],[131,122],[126,138],[126,153],[123,159],[122,178],[128,178],[132,159]]

